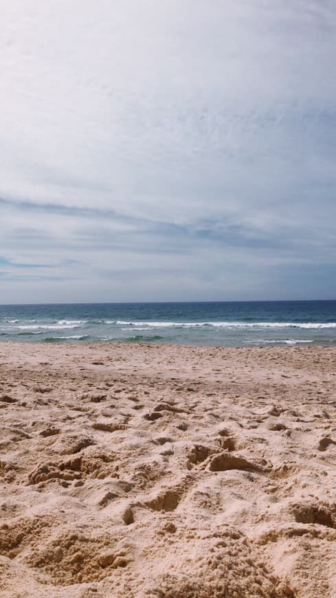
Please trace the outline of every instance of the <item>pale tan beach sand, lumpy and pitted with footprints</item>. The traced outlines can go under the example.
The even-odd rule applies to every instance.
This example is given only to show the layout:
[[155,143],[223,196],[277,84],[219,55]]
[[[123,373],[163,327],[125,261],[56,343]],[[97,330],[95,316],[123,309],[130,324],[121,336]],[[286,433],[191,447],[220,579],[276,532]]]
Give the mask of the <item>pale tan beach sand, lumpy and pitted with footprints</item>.
[[335,359],[0,344],[1,597],[335,597]]

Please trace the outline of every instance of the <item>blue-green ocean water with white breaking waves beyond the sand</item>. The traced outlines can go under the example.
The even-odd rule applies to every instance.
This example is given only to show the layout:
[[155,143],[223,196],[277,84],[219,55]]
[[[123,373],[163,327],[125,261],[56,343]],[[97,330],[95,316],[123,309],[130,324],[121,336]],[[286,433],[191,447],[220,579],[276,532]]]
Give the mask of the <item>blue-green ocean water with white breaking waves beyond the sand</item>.
[[1,305],[0,340],[336,344],[336,301]]

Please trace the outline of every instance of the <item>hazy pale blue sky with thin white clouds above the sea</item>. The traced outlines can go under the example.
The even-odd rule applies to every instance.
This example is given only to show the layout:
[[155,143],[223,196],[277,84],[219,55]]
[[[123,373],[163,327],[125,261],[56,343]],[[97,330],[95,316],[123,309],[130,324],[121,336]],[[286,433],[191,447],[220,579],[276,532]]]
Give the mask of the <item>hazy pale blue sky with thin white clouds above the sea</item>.
[[336,298],[334,0],[1,0],[0,302]]

